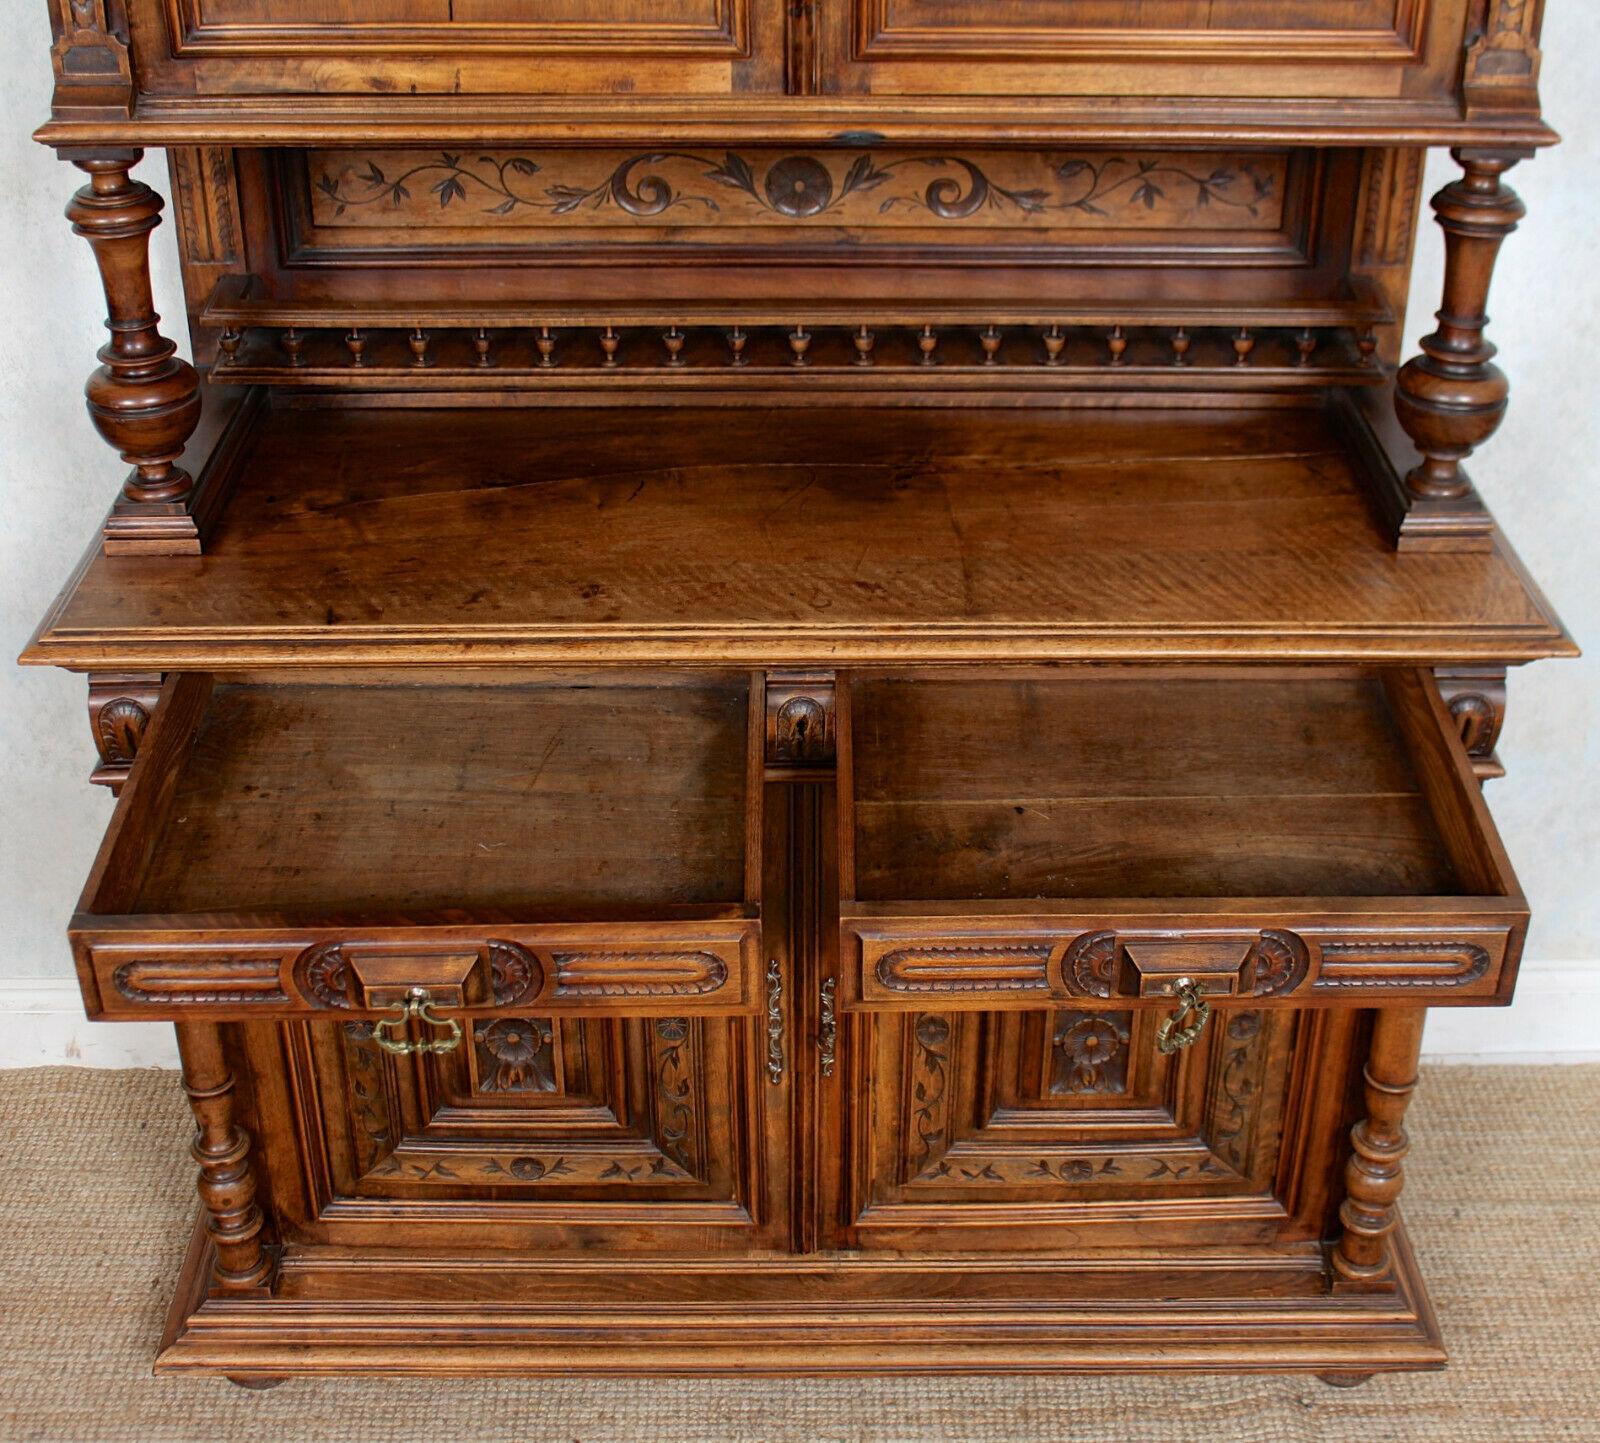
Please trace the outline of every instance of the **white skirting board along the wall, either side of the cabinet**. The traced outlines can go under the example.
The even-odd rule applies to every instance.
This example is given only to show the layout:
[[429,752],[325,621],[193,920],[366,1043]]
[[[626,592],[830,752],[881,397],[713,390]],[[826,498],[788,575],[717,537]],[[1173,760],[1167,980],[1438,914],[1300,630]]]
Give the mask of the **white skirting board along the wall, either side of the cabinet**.
[[[1600,1062],[1600,961],[1525,961],[1510,1008],[1438,1008],[1430,1062]],[[0,1067],[176,1067],[166,1022],[88,1022],[75,982],[0,981]]]

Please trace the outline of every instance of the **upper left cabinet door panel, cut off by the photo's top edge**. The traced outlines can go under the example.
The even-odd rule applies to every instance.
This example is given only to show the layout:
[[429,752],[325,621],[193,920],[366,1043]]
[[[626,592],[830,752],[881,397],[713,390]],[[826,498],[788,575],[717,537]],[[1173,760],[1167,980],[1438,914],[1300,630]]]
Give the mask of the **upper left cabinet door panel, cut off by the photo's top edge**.
[[[130,0],[149,90],[718,96],[782,88],[781,0]],[[160,35],[160,45],[152,40]]]

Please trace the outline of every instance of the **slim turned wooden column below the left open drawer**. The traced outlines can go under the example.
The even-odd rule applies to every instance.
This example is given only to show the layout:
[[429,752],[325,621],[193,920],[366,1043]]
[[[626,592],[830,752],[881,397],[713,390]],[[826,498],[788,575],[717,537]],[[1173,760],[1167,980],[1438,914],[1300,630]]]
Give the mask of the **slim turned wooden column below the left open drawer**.
[[200,1165],[200,1203],[216,1246],[213,1286],[253,1293],[267,1285],[272,1259],[261,1246],[262,1217],[256,1206],[256,1174],[250,1166],[250,1134],[234,1121],[234,1073],[214,1022],[179,1022],[178,1054],[184,1093],[198,1131],[194,1160]]

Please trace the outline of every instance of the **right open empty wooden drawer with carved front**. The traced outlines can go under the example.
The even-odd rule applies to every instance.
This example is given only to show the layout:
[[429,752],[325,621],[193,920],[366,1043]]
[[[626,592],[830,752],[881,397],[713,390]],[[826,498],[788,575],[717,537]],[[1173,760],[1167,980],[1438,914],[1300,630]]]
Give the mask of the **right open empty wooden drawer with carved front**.
[[840,682],[840,1001],[1504,1003],[1526,904],[1429,674]]

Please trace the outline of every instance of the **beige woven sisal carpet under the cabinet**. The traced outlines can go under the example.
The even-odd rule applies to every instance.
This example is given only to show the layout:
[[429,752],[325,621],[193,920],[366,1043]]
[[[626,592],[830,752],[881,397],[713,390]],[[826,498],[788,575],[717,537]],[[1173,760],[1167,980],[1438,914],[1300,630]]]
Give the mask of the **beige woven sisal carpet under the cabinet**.
[[173,1073],[0,1073],[0,1438],[1600,1440],[1600,1067],[1435,1067],[1406,1216],[1454,1358],[1302,1377],[157,1381],[195,1206]]

